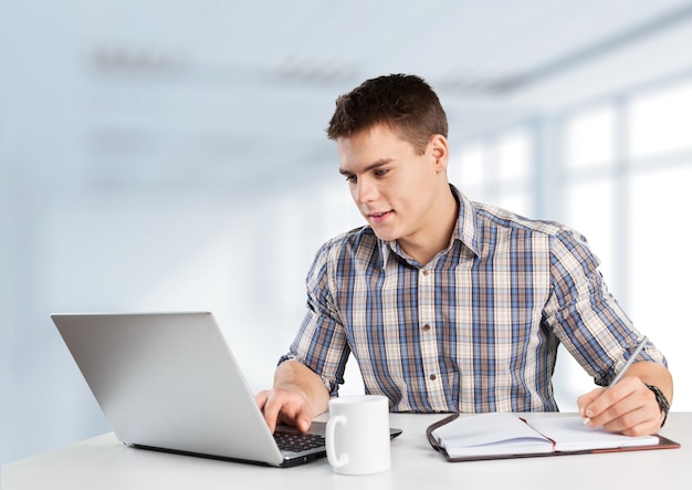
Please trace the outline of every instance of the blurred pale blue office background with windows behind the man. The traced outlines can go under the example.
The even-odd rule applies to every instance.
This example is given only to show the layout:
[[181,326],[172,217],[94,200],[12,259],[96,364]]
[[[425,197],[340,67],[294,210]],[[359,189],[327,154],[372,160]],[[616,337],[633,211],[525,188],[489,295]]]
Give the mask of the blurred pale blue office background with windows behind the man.
[[[52,312],[213,311],[268,387],[361,223],[334,100],[395,72],[439,93],[466,195],[587,236],[692,409],[690,45],[680,0],[0,0],[0,462],[108,430]],[[591,380],[562,355],[555,385]]]

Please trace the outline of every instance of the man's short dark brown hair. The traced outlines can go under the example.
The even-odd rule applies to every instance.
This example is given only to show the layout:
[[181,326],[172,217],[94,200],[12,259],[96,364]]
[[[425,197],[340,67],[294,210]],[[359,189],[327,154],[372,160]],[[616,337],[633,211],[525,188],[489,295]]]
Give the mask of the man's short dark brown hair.
[[329,139],[388,125],[420,154],[432,135],[447,137],[447,114],[437,94],[416,75],[392,74],[363,82],[336,100],[327,127]]

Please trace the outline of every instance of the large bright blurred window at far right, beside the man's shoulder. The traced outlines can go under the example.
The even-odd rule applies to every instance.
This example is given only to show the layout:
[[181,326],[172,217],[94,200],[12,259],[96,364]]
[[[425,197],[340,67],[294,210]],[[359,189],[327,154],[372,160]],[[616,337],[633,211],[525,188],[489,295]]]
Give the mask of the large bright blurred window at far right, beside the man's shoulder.
[[[563,178],[553,185],[566,222],[604,259],[610,291],[681,373],[689,334],[675,306],[688,301],[692,274],[683,216],[692,208],[692,82],[617,98],[626,102],[566,115]],[[675,390],[678,409],[691,404],[692,392]]]

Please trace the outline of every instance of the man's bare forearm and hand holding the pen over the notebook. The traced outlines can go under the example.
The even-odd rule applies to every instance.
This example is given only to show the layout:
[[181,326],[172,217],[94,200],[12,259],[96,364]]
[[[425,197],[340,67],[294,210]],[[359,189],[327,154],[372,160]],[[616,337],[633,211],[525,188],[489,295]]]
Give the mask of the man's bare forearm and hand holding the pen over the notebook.
[[577,400],[581,417],[591,427],[628,436],[657,434],[662,415],[656,395],[646,385],[657,386],[669,403],[673,399],[673,379],[662,365],[640,361],[631,365],[615,386],[598,388]]

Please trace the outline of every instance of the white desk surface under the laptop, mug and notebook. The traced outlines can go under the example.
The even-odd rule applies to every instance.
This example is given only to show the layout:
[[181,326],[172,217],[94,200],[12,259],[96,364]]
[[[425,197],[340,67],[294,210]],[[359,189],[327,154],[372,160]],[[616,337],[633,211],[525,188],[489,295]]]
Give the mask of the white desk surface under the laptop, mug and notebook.
[[2,488],[690,488],[692,413],[671,414],[662,431],[680,442],[680,449],[457,463],[447,462],[426,439],[426,427],[440,418],[440,415],[392,414],[391,425],[403,429],[391,442],[392,468],[371,476],[334,475],[326,459],[282,469],[133,449],[119,444],[113,434],[105,434],[3,466]]

